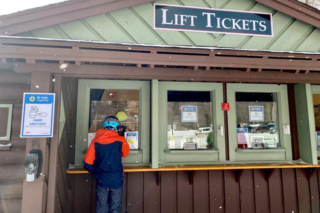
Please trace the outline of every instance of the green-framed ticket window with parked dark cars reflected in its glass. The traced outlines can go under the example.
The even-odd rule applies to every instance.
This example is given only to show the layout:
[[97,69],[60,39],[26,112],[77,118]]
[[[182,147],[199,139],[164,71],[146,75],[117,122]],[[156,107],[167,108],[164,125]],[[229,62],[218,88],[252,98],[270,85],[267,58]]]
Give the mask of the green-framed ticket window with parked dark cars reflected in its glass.
[[230,161],[292,160],[287,85],[227,83]]

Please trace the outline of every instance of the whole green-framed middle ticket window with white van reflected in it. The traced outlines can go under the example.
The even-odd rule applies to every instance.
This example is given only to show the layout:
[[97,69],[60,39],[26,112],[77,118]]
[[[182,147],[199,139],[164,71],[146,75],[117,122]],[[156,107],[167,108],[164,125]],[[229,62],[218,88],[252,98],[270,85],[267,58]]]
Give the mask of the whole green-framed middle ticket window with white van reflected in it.
[[222,90],[222,83],[158,82],[159,165],[225,161]]

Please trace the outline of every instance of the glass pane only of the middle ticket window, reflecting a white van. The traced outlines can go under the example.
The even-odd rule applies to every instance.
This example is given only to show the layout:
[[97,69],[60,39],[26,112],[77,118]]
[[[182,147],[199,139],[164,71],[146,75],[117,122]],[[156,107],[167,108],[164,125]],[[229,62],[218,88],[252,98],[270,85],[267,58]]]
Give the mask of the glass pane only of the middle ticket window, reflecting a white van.
[[185,143],[213,148],[211,97],[211,91],[167,91],[169,149],[184,149]]

